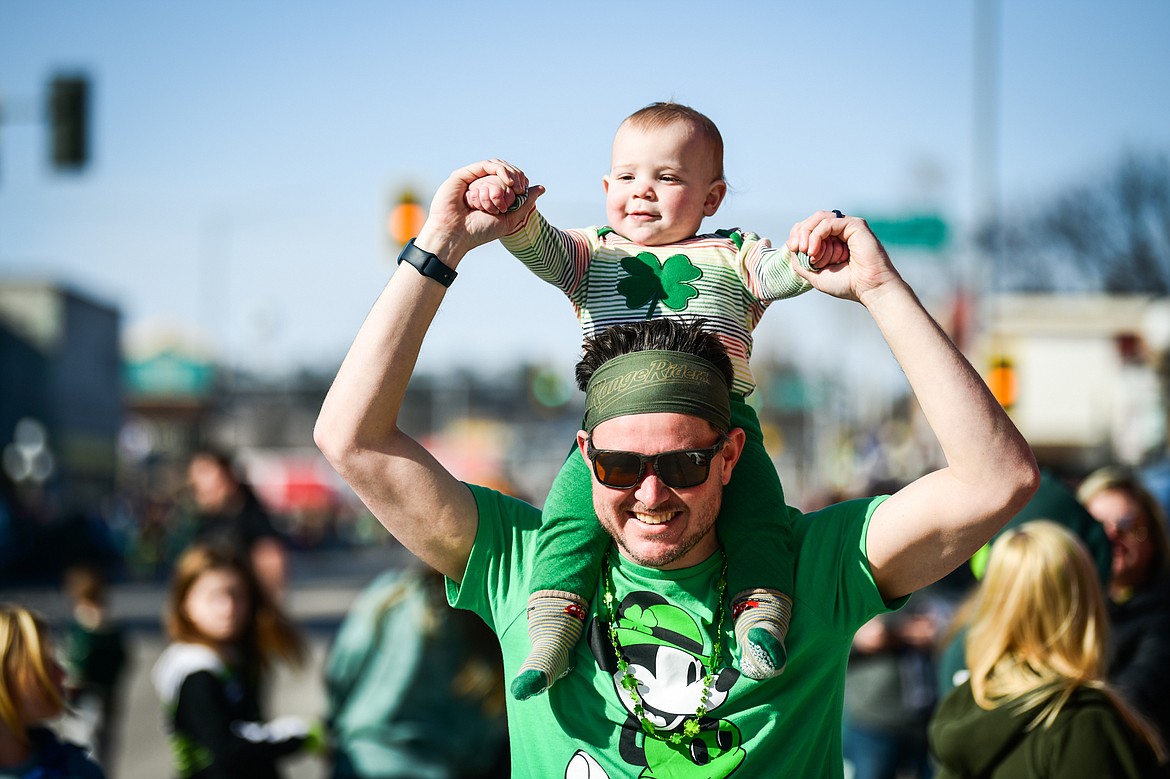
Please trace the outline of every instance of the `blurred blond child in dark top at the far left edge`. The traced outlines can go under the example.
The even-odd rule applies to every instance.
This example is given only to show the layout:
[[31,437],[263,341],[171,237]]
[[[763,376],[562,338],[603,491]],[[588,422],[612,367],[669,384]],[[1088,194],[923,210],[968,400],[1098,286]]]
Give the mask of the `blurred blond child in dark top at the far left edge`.
[[101,766],[42,723],[64,709],[64,671],[44,623],[20,606],[0,606],[0,777],[104,779]]

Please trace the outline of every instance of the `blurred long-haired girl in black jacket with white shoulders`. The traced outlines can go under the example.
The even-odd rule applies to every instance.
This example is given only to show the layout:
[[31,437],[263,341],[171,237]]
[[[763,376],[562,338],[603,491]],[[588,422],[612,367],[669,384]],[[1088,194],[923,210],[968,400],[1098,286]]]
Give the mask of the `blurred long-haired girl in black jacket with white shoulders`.
[[261,715],[264,673],[277,657],[302,662],[304,644],[246,560],[191,546],[176,564],[164,620],[173,643],[152,680],[180,779],[275,779],[280,758],[319,746],[300,718]]

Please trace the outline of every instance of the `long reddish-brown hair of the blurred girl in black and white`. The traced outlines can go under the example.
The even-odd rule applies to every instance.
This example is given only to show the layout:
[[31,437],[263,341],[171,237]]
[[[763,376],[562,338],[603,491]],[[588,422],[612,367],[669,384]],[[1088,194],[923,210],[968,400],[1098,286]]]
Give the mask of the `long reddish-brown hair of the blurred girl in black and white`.
[[194,544],[187,547],[174,565],[164,615],[166,633],[173,641],[207,642],[206,636],[191,621],[184,604],[191,587],[208,571],[233,571],[243,580],[249,615],[239,644],[246,655],[260,668],[267,667],[274,657],[290,662],[304,660],[303,640],[292,622],[260,585],[252,565],[234,550],[219,544]]

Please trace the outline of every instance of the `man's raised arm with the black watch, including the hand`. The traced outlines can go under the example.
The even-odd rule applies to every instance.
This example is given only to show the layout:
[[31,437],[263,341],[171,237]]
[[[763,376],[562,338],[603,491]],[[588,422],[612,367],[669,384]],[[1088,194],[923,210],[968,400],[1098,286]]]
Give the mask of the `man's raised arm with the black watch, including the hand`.
[[[511,214],[470,211],[468,185],[500,175],[526,180],[501,160],[460,168],[431,204],[415,247],[455,268],[470,249],[512,229],[543,189]],[[401,263],[362,324],[322,405],[314,440],[378,521],[420,559],[459,581],[479,517],[470,491],[398,427],[406,385],[446,287]]]

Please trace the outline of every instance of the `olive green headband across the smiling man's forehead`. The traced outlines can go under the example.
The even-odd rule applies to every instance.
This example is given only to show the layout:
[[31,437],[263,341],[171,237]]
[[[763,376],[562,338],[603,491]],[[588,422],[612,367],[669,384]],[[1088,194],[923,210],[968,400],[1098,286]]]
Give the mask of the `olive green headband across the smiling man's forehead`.
[[614,416],[673,412],[731,427],[731,397],[715,365],[695,354],[646,350],[614,357],[585,387],[586,433]]

